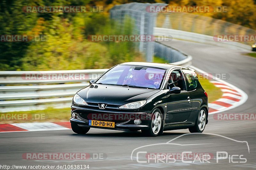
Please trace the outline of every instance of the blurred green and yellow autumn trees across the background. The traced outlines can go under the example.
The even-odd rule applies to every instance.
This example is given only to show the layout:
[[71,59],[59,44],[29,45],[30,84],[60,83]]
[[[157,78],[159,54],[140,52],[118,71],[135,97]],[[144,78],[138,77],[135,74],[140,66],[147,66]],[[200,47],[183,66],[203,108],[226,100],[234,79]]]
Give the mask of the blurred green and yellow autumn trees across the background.
[[[1,42],[0,70],[76,70],[110,68],[127,61],[145,61],[136,42],[91,42],[88,35],[129,35],[109,19],[109,9],[132,0],[1,0],[0,35],[45,35],[46,41]],[[196,13],[256,29],[256,0],[137,0],[172,6],[228,6],[227,12]],[[104,12],[25,13],[24,6],[104,6]]]

